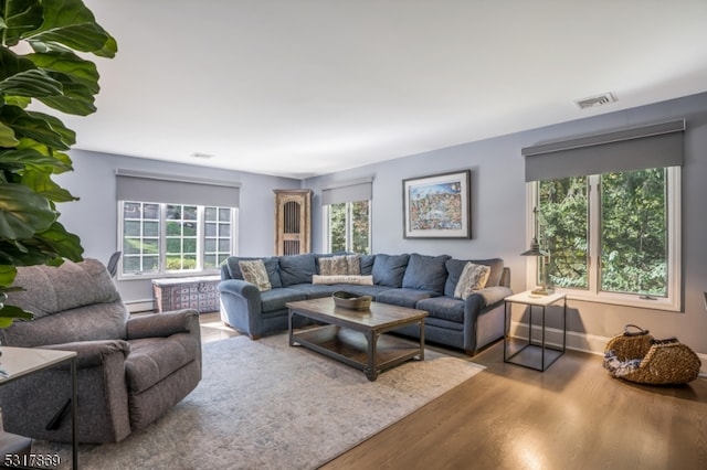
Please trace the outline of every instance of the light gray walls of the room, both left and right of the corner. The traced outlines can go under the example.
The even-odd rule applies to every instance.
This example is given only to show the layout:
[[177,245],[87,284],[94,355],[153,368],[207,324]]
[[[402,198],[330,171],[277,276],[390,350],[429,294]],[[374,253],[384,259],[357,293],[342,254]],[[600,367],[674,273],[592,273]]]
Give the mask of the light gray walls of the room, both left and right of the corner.
[[[314,250],[321,250],[320,190],[336,182],[373,177],[373,253],[449,254],[460,258],[503,257],[511,269],[511,287],[526,289],[526,183],[523,147],[544,141],[602,132],[609,129],[685,118],[683,168],[683,309],[674,313],[600,303],[570,302],[570,342],[594,350],[605,338],[636,323],[661,338],[677,335],[707,353],[707,94],[611,113],[469,142],[426,153],[389,160],[315,179],[289,180],[245,172],[175,164],[106,153],[72,151],[74,172],[57,182],[82,200],[60,205],[61,221],[81,236],[85,255],[107,259],[117,246],[115,170],[131,169],[169,174],[240,181],[239,254],[271,255],[274,241],[273,189],[312,188]],[[472,239],[404,239],[402,237],[402,180],[455,170],[472,170]],[[122,281],[125,300],[151,298],[149,282]]]

